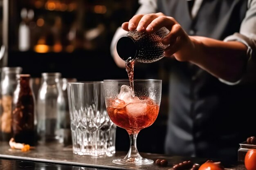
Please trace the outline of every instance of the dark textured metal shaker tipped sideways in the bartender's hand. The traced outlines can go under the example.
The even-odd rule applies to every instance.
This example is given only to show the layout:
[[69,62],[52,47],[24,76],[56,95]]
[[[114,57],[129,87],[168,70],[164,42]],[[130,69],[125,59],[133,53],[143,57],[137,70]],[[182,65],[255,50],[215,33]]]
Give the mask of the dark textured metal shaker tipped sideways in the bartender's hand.
[[138,62],[156,62],[164,57],[168,45],[162,44],[162,40],[169,32],[166,27],[153,33],[129,31],[118,40],[117,53],[125,61],[131,57]]

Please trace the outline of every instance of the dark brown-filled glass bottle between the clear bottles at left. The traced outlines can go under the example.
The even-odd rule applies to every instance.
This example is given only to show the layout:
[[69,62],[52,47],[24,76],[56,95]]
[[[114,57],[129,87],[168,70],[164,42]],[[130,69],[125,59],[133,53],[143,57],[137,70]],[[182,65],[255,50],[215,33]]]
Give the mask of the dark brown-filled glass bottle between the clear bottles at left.
[[18,143],[35,145],[34,115],[35,98],[29,85],[30,75],[19,75],[18,86],[13,94],[12,131]]

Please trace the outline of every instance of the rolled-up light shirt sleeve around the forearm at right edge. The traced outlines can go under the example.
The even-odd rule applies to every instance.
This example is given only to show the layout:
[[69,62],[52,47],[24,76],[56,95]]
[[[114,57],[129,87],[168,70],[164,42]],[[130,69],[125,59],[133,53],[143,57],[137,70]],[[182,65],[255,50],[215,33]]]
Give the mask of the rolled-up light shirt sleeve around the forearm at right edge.
[[224,79],[220,79],[220,81],[229,85],[256,83],[256,0],[248,0],[248,10],[239,33],[228,36],[224,41],[238,41],[245,44],[247,46],[247,63],[243,76],[238,82],[231,83]]

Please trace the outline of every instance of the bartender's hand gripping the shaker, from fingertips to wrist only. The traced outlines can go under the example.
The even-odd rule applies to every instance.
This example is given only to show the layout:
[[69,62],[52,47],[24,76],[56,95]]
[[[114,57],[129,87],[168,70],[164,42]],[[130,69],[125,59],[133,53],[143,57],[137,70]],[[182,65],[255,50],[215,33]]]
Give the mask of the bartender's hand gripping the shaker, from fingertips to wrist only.
[[129,22],[124,22],[122,28],[126,31],[137,29],[138,32],[154,32],[165,26],[170,33],[162,40],[169,46],[164,51],[164,56],[174,56],[179,61],[189,61],[195,45],[189,35],[182,29],[180,24],[172,17],[163,13],[151,13],[147,15],[135,15]]

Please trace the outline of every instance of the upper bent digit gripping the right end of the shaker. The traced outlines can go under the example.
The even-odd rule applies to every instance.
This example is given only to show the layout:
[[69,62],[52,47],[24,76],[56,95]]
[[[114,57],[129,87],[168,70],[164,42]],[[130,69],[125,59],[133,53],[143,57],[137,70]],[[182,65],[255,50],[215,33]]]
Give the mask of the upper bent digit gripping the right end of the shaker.
[[182,27],[179,24],[174,24],[171,28],[170,33],[166,35],[166,37],[162,40],[164,45],[172,45],[172,43],[176,42],[177,37],[181,37],[185,34]]

